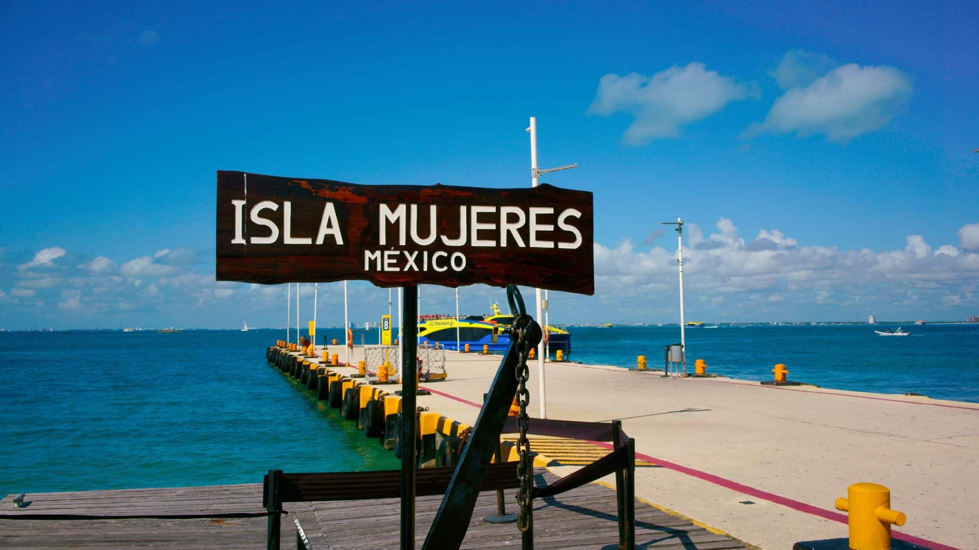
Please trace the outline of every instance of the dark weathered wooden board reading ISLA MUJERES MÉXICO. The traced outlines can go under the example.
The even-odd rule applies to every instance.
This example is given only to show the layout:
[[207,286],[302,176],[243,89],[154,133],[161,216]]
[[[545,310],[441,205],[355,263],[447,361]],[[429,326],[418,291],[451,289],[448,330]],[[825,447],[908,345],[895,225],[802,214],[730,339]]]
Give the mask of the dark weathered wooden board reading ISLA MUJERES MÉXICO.
[[594,294],[591,193],[217,172],[217,279]]

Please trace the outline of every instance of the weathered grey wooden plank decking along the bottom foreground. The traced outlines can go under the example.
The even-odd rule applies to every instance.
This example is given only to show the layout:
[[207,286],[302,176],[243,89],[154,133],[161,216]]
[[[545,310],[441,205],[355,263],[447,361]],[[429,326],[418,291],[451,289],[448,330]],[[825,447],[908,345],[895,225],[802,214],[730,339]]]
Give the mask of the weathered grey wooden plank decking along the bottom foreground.
[[[536,469],[536,484],[554,481]],[[0,548],[161,548],[210,550],[264,548],[261,484],[28,493],[17,508],[14,495],[0,500]],[[506,493],[516,511],[513,491]],[[416,548],[421,548],[441,497],[418,497]],[[398,540],[398,499],[288,503],[289,518],[303,526],[314,550],[390,548]],[[496,493],[484,491],[476,504],[463,548],[519,547],[515,524],[492,525],[483,517],[496,511]],[[115,517],[115,519],[27,519],[38,515]],[[21,519],[8,519],[18,516]],[[141,518],[135,518],[139,516]],[[163,516],[206,516],[162,519]],[[222,517],[223,516],[223,517]],[[156,518],[154,518],[156,517]],[[726,550],[740,542],[636,502],[636,542],[647,548]],[[536,548],[601,548],[618,540],[615,491],[589,483],[571,492],[536,501]],[[291,519],[283,519],[283,548],[296,548]]]

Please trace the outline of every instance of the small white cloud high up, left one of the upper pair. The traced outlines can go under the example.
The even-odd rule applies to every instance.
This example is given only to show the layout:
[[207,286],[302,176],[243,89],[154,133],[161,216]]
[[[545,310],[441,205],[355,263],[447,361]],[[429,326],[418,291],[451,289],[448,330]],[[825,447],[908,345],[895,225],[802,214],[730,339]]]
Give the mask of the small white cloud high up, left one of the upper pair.
[[747,97],[748,89],[734,79],[708,70],[702,63],[690,63],[652,76],[637,72],[626,76],[606,74],[598,83],[587,113],[632,115],[625,140],[631,145],[643,145],[654,138],[676,137],[680,126]]

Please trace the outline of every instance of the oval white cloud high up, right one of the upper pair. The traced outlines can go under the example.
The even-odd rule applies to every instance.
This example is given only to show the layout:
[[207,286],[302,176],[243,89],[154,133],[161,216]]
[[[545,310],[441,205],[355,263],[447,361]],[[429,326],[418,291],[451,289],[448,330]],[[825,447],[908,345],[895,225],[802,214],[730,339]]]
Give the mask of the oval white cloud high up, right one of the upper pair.
[[884,127],[911,89],[908,75],[899,69],[844,65],[808,86],[785,92],[775,100],[765,121],[752,124],[743,136],[797,132],[847,141]]

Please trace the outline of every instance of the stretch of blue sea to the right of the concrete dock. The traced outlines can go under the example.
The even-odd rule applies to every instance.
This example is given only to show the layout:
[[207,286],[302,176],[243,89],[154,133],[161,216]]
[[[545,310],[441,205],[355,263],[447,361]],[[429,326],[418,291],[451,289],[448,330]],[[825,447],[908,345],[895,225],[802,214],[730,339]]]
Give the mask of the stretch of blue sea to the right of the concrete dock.
[[[771,380],[784,363],[788,379],[840,390],[914,392],[979,402],[979,324],[905,325],[911,336],[880,337],[889,325],[747,325],[687,329],[687,371]],[[576,327],[571,358],[583,363],[662,368],[663,346],[679,327]]]

